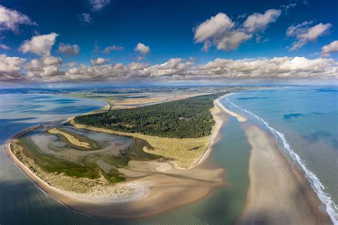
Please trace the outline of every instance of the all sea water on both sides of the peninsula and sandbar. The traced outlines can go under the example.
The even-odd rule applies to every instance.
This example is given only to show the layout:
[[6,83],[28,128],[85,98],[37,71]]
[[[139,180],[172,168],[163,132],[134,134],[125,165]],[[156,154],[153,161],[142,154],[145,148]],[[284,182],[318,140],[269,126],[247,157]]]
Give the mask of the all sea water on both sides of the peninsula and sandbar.
[[[318,177],[324,197],[337,202],[337,94],[337,88],[253,90],[236,93],[223,104],[245,114],[272,137],[275,136],[260,118],[285,135],[285,142],[278,140],[281,149],[285,143],[290,145],[302,164]],[[0,105],[2,145],[27,127],[95,110],[106,103],[31,93],[0,95]],[[224,185],[193,204],[163,214],[137,220],[108,220],[72,211],[46,195],[6,158],[1,147],[0,224],[234,224],[245,204],[249,157],[245,132],[235,118],[229,117],[205,161],[207,166],[225,168]]]

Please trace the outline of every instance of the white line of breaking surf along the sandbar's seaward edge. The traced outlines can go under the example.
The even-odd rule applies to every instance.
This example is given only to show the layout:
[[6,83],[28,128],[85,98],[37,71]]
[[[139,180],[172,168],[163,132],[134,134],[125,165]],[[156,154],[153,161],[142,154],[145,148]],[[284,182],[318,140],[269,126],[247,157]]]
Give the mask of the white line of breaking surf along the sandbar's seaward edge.
[[232,108],[245,112],[247,115],[250,115],[250,117],[253,117],[260,125],[265,127],[266,130],[269,130],[272,133],[272,135],[275,136],[277,142],[281,143],[280,147],[282,148],[282,150],[291,157],[291,159],[293,160],[293,162],[295,162],[297,167],[300,167],[304,171],[304,175],[307,178],[307,180],[309,180],[312,189],[314,190],[314,192],[316,192],[320,201],[325,205],[327,214],[329,214],[333,224],[338,225],[337,204],[334,203],[329,194],[324,192],[325,188],[323,184],[319,181],[317,175],[314,174],[310,169],[308,169],[306,167],[306,163],[304,162],[304,160],[302,160],[299,157],[299,155],[297,155],[297,153],[294,150],[292,150],[292,147],[290,146],[289,142],[287,142],[285,135],[282,132],[279,132],[275,128],[271,127],[268,122],[263,120],[261,117],[253,114],[249,110],[240,108],[240,106],[236,105],[235,103],[232,103],[228,98],[223,99],[225,100],[225,102],[223,101],[223,103],[230,105]]

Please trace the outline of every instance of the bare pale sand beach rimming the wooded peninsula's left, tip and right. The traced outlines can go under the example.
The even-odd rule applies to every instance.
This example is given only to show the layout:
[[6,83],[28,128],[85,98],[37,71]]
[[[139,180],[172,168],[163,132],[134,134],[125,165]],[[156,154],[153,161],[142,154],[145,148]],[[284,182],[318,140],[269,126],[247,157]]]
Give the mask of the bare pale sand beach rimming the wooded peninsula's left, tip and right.
[[[7,157],[42,189],[43,192],[58,199],[59,202],[71,209],[81,211],[91,216],[106,218],[140,218],[151,216],[173,209],[176,206],[195,202],[205,197],[213,188],[222,184],[222,178],[220,176],[223,169],[205,169],[200,166],[201,162],[210,155],[213,145],[219,139],[220,128],[223,122],[225,122],[225,117],[220,116],[222,110],[215,104],[215,101],[214,107],[217,109],[217,112],[212,113],[215,125],[212,127],[208,148],[200,159],[198,159],[198,162],[195,163],[194,167],[190,169],[180,169],[171,166],[168,162],[150,161],[141,162],[141,164],[131,162],[130,168],[127,169],[129,171],[126,172],[136,174],[135,179],[118,185],[126,187],[128,184],[133,184],[138,187],[138,192],[129,197],[124,196],[124,199],[120,202],[112,203],[103,201],[107,198],[106,195],[91,198],[83,194],[63,191],[62,189],[52,187],[36,176],[34,172],[31,172],[31,170],[11,152],[10,145],[15,137],[22,134],[22,132],[33,129],[33,127],[11,137],[4,145],[4,150]],[[152,174],[148,177],[142,177],[144,170]],[[140,174],[140,176],[137,174]],[[172,175],[175,175],[175,177]],[[97,202],[98,199],[102,201]]]

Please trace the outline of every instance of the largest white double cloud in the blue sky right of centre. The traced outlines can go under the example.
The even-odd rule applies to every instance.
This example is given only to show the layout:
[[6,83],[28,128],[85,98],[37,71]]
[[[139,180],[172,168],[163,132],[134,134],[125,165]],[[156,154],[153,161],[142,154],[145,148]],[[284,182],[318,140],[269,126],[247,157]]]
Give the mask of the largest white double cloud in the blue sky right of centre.
[[264,14],[252,14],[242,25],[232,21],[227,14],[218,13],[194,28],[195,43],[204,43],[202,50],[209,51],[212,46],[217,50],[236,50],[241,43],[250,40],[252,34],[263,32],[280,16],[281,11],[269,9]]

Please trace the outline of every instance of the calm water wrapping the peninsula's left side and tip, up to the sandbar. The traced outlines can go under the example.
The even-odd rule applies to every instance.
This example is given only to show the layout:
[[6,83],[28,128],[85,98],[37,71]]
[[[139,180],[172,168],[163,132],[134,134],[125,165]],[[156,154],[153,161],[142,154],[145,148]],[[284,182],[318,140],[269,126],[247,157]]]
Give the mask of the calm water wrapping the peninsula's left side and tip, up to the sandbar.
[[[20,130],[101,108],[106,103],[60,95],[0,95],[0,144]],[[234,224],[245,204],[250,145],[236,120],[222,127],[207,167],[224,167],[227,183],[198,202],[137,220],[106,220],[48,197],[0,149],[0,224]],[[194,188],[194,187],[191,187]]]

